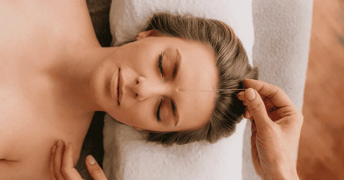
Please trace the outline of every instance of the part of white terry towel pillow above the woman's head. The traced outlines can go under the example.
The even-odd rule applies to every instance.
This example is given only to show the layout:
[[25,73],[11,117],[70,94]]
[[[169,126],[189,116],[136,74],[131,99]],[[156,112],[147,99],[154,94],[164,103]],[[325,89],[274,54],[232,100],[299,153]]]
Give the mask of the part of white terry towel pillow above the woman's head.
[[110,30],[112,46],[133,41],[147,27],[154,12],[177,12],[217,19],[228,24],[243,43],[252,63],[254,31],[252,0],[112,0]]

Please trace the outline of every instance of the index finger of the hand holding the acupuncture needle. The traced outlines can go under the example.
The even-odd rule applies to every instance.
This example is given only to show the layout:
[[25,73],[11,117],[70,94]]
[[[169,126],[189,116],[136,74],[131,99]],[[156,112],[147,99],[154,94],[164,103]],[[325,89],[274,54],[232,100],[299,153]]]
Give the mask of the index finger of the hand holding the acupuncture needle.
[[273,84],[269,84],[259,80],[244,79],[244,85],[247,88],[256,89],[256,91],[268,97],[277,107],[293,106],[294,103],[284,91]]

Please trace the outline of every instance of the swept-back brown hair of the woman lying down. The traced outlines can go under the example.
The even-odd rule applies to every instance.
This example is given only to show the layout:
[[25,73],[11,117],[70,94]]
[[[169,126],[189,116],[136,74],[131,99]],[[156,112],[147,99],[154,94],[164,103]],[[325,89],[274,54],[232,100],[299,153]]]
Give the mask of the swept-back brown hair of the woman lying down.
[[[258,79],[257,67],[252,68],[240,40],[227,24],[214,20],[178,15],[156,13],[146,30],[200,42],[214,52],[218,71],[216,89],[242,89],[243,79]],[[148,141],[165,146],[187,144],[189,142],[217,140],[232,135],[236,124],[243,119],[245,106],[238,100],[234,91],[220,91],[215,97],[215,107],[209,122],[195,130],[177,132],[149,133]]]

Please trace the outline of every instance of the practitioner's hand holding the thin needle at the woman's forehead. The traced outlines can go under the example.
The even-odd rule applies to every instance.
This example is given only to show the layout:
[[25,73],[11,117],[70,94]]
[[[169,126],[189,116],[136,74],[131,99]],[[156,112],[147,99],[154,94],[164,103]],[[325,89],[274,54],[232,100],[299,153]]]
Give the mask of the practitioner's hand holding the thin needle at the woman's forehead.
[[281,88],[257,80],[244,80],[249,88],[238,93],[250,118],[251,154],[262,179],[299,179],[296,153],[303,116]]

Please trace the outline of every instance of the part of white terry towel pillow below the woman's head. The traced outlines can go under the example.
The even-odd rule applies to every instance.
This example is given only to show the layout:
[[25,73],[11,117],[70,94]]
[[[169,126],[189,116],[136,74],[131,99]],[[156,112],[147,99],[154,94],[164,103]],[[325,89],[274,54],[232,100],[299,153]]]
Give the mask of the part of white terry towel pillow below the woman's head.
[[192,143],[162,147],[140,140],[132,127],[104,119],[103,169],[109,180],[241,179],[246,119],[229,138],[215,144]]

